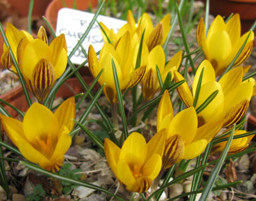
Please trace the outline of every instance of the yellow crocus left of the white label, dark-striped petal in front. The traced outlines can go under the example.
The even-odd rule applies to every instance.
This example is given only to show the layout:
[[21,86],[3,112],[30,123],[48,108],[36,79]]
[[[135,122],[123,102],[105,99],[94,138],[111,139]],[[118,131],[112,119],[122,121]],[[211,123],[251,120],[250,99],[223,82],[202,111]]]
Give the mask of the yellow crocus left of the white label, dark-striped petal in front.
[[45,34],[38,35],[41,38],[20,41],[17,57],[29,89],[42,103],[67,67],[67,45],[64,34],[54,38],[50,45]]

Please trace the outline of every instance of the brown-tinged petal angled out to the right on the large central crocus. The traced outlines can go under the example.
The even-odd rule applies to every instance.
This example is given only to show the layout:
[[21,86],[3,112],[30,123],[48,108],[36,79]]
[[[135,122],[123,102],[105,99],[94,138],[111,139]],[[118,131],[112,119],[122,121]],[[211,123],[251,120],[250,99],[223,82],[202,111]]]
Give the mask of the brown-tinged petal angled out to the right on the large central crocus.
[[121,90],[129,89],[136,86],[136,84],[140,82],[141,78],[143,77],[145,70],[146,66],[141,66],[140,68],[134,70],[120,83]]

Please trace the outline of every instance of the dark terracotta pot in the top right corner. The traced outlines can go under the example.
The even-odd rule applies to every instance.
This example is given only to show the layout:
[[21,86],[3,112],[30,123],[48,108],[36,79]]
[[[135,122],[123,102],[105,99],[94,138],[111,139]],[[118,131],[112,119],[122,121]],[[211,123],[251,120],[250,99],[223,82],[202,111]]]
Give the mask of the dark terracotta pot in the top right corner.
[[[205,0],[203,0],[205,3]],[[256,0],[212,0],[210,13],[228,17],[231,13],[239,13],[241,33],[246,33],[256,20]]]

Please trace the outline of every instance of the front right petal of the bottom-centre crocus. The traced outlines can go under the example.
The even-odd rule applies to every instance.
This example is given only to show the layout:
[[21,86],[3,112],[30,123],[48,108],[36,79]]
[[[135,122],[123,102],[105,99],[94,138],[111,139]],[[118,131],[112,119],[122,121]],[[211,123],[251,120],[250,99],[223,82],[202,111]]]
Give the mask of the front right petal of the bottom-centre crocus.
[[162,168],[162,156],[153,154],[143,165],[142,175],[148,177],[152,181],[156,179]]

